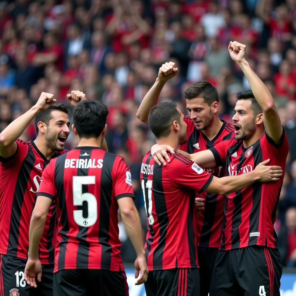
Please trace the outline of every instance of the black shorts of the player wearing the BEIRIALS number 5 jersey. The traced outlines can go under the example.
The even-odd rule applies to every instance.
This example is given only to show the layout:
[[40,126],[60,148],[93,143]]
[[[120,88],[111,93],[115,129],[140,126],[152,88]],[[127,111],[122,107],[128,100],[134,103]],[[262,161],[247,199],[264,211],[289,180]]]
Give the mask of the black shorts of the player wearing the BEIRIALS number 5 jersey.
[[54,296],[127,296],[125,271],[64,269],[54,273]]

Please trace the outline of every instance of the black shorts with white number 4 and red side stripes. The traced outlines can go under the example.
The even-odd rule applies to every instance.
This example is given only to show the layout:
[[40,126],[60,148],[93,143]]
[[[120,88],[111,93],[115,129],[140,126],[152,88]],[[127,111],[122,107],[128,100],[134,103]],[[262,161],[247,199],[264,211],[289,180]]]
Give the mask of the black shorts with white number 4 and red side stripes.
[[251,246],[219,251],[210,295],[280,296],[281,274],[277,249]]

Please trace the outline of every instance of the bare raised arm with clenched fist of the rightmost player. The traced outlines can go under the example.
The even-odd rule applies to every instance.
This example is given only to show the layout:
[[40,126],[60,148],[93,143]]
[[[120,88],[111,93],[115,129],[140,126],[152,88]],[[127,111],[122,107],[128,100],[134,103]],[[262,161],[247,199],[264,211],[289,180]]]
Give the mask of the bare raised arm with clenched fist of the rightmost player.
[[273,139],[276,144],[279,144],[283,133],[281,119],[270,92],[245,59],[246,46],[237,41],[230,41],[228,50],[231,58],[242,69],[242,72],[251,86],[255,99],[263,111],[263,123],[267,135]]

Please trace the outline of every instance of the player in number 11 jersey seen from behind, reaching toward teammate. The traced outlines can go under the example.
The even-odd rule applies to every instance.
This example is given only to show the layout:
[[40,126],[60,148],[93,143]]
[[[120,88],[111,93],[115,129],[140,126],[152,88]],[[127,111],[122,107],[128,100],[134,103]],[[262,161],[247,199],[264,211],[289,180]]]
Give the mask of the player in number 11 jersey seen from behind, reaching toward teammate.
[[[187,141],[187,125],[176,103],[164,102],[152,107],[148,123],[158,144],[177,149]],[[255,181],[279,180],[281,170],[278,166],[263,165],[268,163],[265,161],[248,174],[217,178],[181,154],[170,154],[169,158],[168,165],[159,166],[148,152],[141,165],[149,229],[145,244],[150,271],[146,294],[200,295],[195,192],[224,195]],[[273,169],[274,175],[266,178],[266,172]]]

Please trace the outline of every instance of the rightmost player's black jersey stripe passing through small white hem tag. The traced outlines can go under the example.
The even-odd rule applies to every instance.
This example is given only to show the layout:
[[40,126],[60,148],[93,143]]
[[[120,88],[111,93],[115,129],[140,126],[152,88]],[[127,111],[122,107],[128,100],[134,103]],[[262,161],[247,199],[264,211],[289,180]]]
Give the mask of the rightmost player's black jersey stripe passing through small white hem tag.
[[[253,145],[253,160],[254,160],[254,168],[262,162],[263,156],[262,156],[262,150],[260,147],[260,141],[257,141]],[[249,156],[251,157],[251,156]],[[253,169],[254,169],[253,168]],[[259,221],[260,221],[260,205],[261,205],[261,194],[262,194],[262,183],[261,182],[254,182],[252,185],[253,192],[253,205],[252,209],[250,211],[250,228],[249,228],[249,234],[251,232],[258,232],[259,231]],[[262,218],[262,217],[261,217]],[[258,237],[250,237],[249,235],[249,244],[257,243]]]

